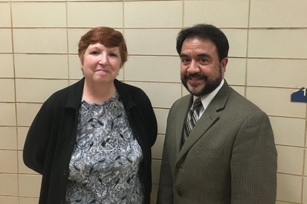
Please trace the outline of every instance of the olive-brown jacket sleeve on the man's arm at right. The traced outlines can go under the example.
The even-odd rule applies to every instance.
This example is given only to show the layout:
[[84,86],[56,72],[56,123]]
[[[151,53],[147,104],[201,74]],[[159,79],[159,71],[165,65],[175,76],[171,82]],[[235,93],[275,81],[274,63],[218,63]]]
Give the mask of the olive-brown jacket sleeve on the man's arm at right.
[[268,116],[251,114],[236,136],[231,167],[231,203],[276,201],[277,152]]

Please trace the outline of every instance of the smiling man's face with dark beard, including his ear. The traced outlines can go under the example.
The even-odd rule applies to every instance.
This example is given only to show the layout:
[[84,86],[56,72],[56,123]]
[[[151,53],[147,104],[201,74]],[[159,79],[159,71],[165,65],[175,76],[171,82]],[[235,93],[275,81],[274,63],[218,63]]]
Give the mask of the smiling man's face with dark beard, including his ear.
[[182,84],[195,96],[211,93],[224,79],[228,58],[220,63],[216,46],[210,40],[186,38],[180,59]]

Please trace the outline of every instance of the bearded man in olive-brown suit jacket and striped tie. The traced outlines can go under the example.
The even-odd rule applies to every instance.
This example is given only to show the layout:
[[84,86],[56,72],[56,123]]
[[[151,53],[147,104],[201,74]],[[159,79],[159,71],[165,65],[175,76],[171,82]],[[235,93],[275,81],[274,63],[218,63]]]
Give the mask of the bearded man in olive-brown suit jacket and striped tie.
[[178,35],[181,81],[191,94],[168,114],[159,204],[275,203],[271,124],[224,80],[228,49],[226,36],[213,25]]

